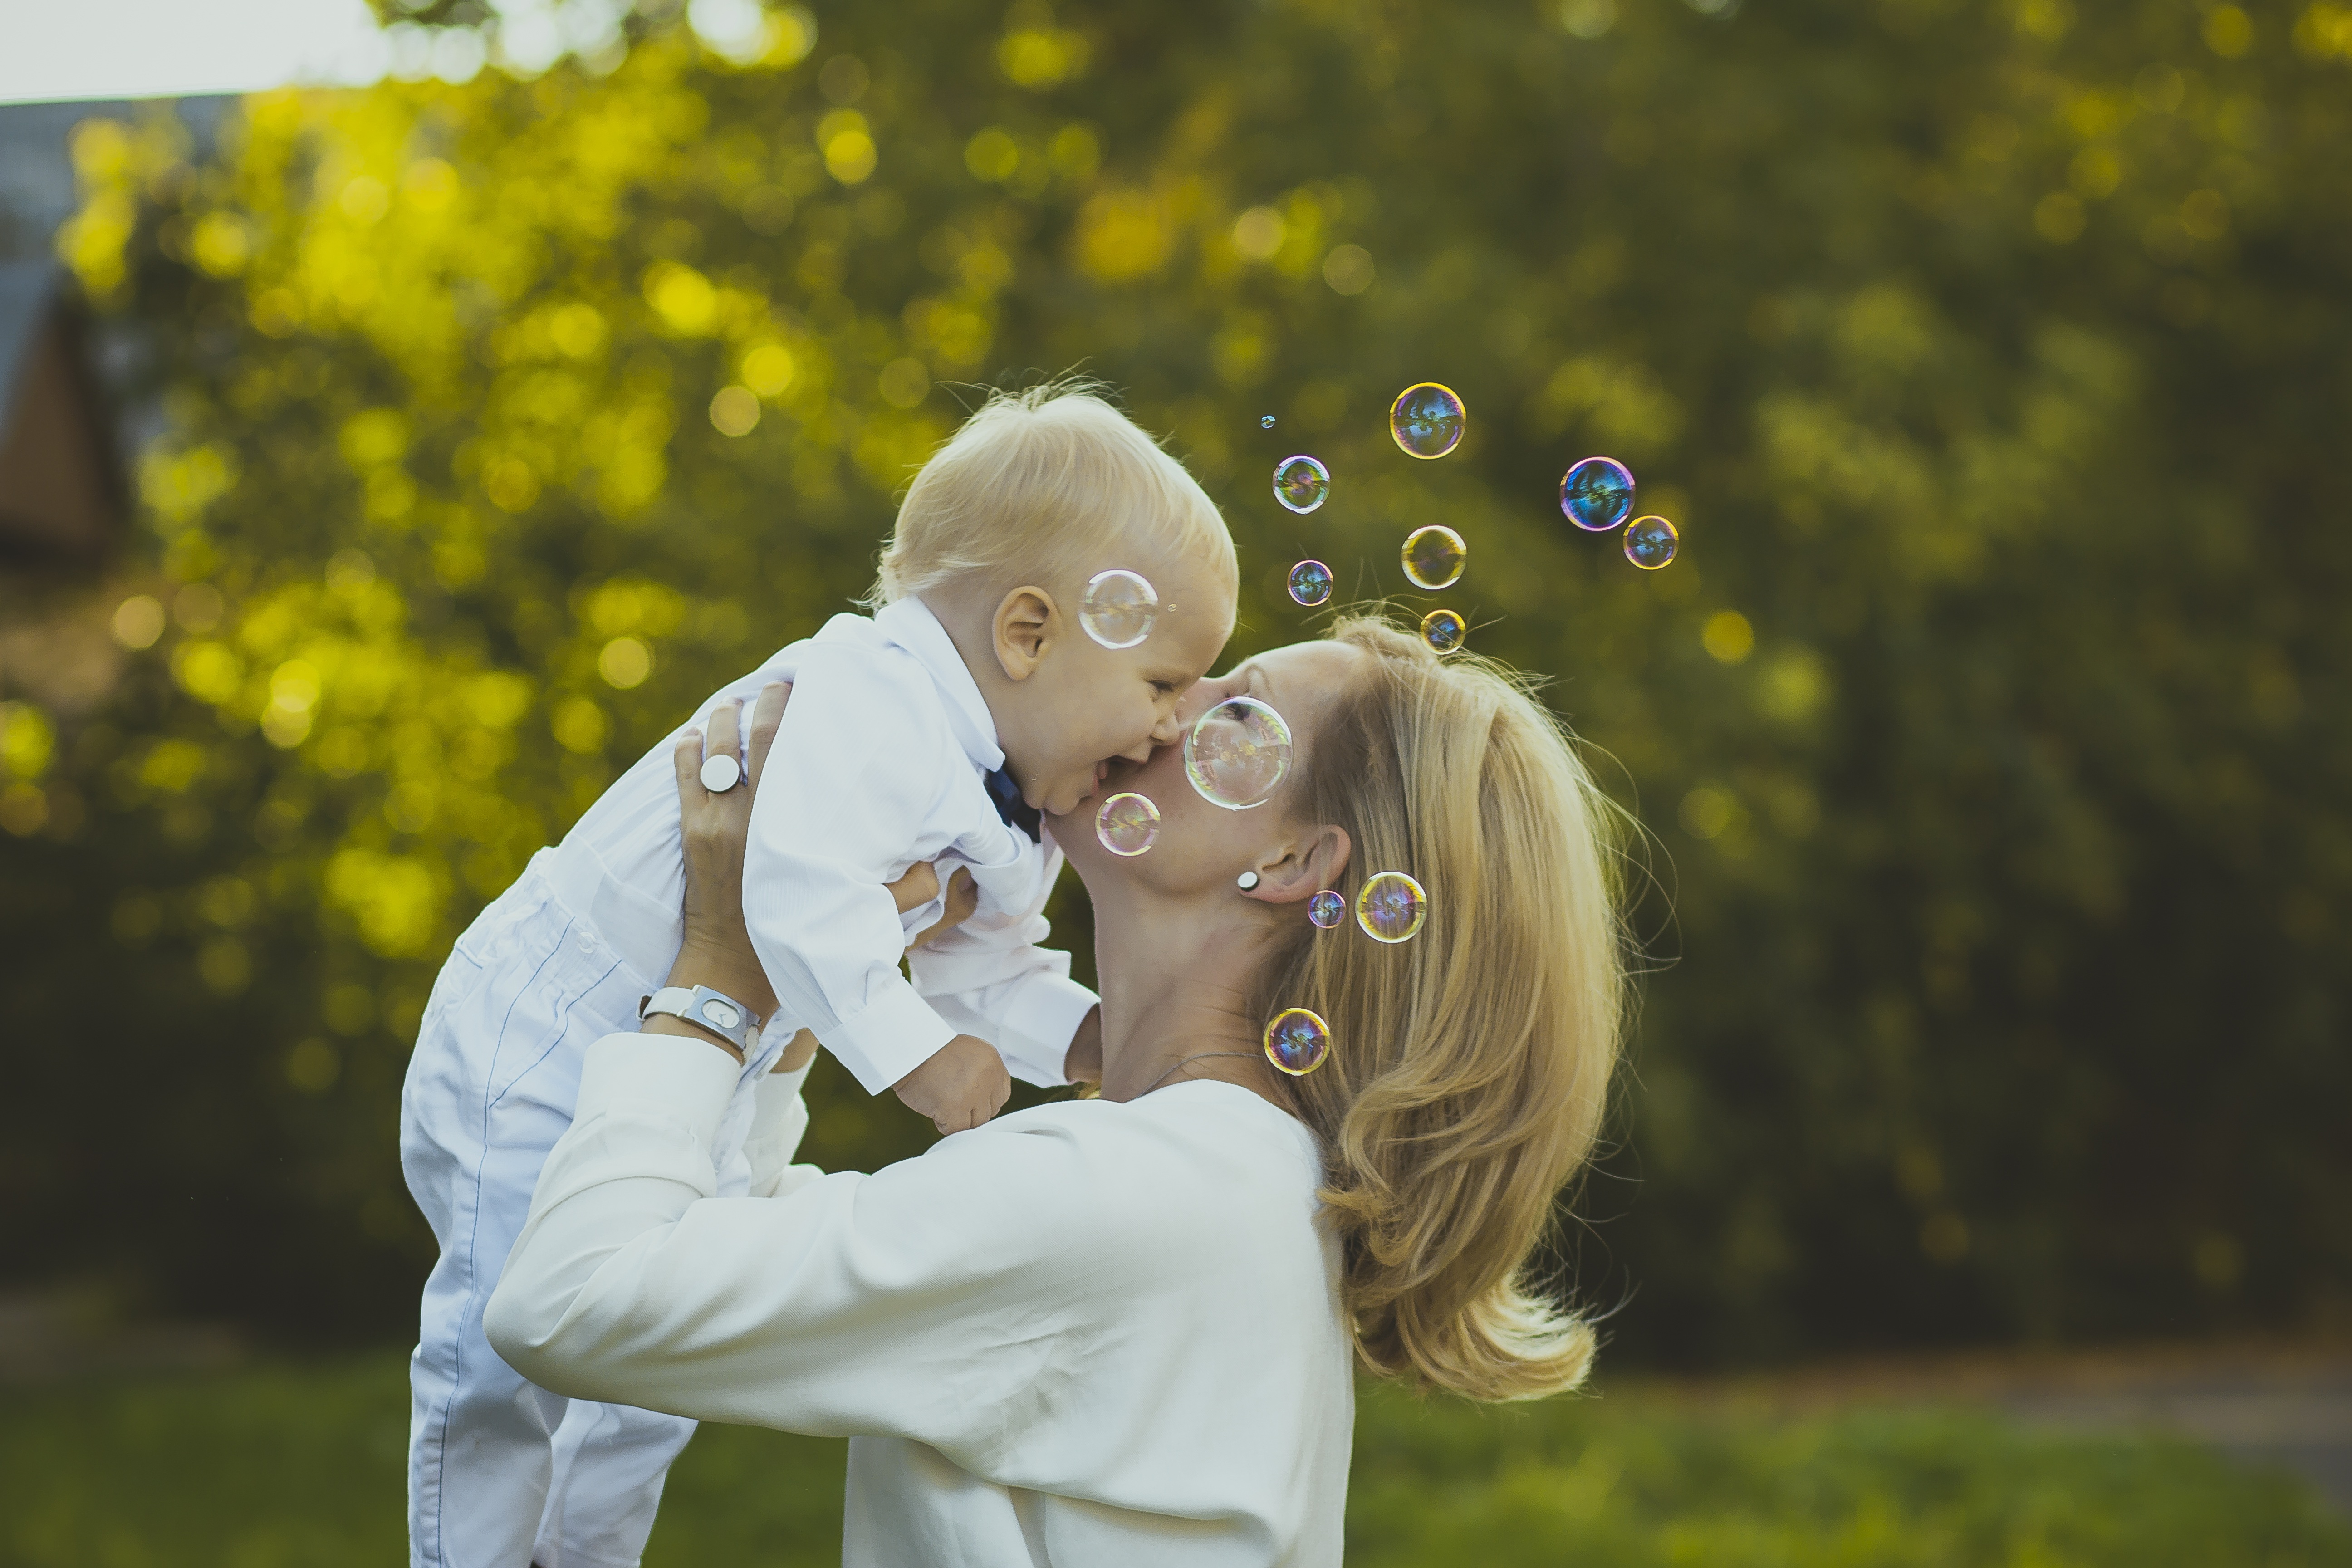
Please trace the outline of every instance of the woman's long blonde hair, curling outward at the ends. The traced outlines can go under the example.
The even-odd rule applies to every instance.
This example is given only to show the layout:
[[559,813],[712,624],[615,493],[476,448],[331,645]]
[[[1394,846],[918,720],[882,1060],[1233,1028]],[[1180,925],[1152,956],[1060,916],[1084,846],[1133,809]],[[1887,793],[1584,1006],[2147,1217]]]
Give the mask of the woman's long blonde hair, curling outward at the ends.
[[1331,1025],[1331,1056],[1291,1088],[1324,1150],[1362,1361],[1472,1399],[1557,1394],[1595,1335],[1545,1300],[1534,1260],[1599,1135],[1623,1027],[1613,806],[1503,668],[1371,616],[1331,635],[1371,661],[1317,722],[1291,813],[1352,837],[1350,910],[1397,870],[1430,912],[1397,945],[1301,919],[1256,1016]]

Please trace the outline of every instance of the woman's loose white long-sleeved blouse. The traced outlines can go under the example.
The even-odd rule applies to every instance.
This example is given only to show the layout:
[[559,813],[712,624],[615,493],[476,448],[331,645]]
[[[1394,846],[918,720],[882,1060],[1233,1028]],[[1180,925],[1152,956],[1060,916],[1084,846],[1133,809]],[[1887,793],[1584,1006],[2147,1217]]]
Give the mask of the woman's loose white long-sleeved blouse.
[[557,1394],[851,1436],[844,1563],[1338,1563],[1355,1387],[1308,1131],[1232,1084],[1056,1103],[713,1197],[736,1065],[612,1034],[489,1300]]

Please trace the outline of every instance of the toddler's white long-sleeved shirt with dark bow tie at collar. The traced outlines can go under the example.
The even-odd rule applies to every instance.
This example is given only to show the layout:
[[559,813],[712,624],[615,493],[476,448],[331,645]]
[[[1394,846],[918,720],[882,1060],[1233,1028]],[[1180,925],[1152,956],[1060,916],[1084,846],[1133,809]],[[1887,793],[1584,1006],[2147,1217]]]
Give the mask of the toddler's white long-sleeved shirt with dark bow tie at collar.
[[[743,701],[748,722],[779,679],[793,682],[793,701],[743,856],[743,919],[779,997],[767,1037],[814,1030],[868,1093],[955,1034],[988,1039],[1018,1079],[1065,1081],[1063,1056],[1096,997],[1070,980],[1070,954],[1037,947],[1061,849],[997,816],[983,780],[1004,750],[948,630],[913,597],[873,621],[835,616],[715,691],[696,724],[727,701]],[[670,741],[630,766],[557,853],[600,863],[607,893],[593,917],[642,973],[666,973],[684,898]],[[906,940],[941,903],[901,917],[889,884],[920,860],[938,863],[941,886],[953,867],[971,867],[981,900],[962,926],[906,954],[908,978]]]

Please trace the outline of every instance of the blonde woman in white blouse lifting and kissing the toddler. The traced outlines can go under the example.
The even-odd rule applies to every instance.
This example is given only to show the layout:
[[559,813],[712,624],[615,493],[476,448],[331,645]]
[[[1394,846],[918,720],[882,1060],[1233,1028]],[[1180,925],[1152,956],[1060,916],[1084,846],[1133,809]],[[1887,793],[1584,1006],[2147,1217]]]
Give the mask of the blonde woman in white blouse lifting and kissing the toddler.
[[[1265,809],[1209,804],[1162,748],[1103,785],[1160,804],[1150,853],[1054,823],[1094,900],[1101,1060],[1070,1077],[1098,1100],[795,1178],[779,1074],[776,1197],[715,1199],[731,1048],[668,1018],[597,1041],[489,1305],[499,1354],[560,1394],[851,1436],[844,1561],[889,1566],[1336,1563],[1350,1359],[1475,1399],[1573,1387],[1592,1333],[1526,1274],[1616,1056],[1606,806],[1522,689],[1378,621],[1188,708],[1237,693],[1296,738]],[[748,799],[699,759],[689,736],[670,985],[762,1006]],[[1310,924],[1378,870],[1428,889],[1418,936]],[[1289,1006],[1331,1023],[1305,1077],[1263,1051]]]

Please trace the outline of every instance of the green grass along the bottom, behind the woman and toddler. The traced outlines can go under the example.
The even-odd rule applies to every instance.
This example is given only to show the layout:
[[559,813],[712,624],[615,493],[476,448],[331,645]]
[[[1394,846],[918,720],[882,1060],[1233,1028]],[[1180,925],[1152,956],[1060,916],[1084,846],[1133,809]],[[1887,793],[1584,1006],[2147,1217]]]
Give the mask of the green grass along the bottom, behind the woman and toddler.
[[[400,1356],[0,1396],[0,1563],[405,1561]],[[840,1561],[844,1446],[703,1427],[647,1568]],[[1644,1396],[1517,1410],[1367,1389],[1362,1568],[2352,1568],[2288,1476],[1966,1410],[1790,1420]]]

